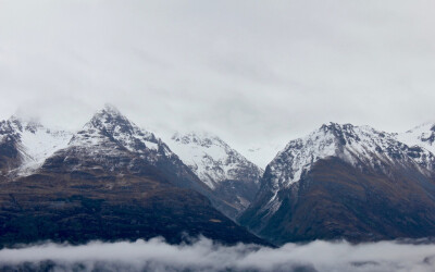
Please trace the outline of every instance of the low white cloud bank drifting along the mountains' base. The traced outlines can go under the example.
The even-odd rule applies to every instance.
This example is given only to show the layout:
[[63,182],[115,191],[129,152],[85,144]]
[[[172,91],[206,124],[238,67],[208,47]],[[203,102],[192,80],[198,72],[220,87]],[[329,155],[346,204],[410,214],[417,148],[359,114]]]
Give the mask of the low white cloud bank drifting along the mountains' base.
[[134,243],[47,243],[0,250],[0,268],[48,271],[433,271],[435,244],[378,242],[351,245],[316,240],[281,248],[222,246],[207,238],[169,245],[161,238]]

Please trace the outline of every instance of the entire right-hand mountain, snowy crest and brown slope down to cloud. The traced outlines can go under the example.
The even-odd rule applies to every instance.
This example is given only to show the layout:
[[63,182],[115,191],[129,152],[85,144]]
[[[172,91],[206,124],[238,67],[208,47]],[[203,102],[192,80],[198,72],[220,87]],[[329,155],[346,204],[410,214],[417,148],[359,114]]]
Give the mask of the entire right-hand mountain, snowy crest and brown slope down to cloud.
[[397,135],[326,124],[268,165],[240,223],[276,244],[433,236],[434,162]]

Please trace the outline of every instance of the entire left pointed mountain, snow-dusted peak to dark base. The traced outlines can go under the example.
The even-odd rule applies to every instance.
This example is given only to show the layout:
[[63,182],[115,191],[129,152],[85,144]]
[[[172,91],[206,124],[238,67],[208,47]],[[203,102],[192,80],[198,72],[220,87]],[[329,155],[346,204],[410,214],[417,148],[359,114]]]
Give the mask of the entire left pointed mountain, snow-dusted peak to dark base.
[[154,236],[179,243],[200,234],[263,244],[213,206],[226,203],[162,140],[105,107],[32,174],[0,184],[0,244]]

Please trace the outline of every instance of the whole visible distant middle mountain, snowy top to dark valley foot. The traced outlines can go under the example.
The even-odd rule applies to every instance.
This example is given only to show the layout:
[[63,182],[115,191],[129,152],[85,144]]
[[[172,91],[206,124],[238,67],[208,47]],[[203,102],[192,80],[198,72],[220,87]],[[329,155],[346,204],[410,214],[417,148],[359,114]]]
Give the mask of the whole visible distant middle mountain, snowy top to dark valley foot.
[[263,171],[221,138],[207,133],[175,134],[169,145],[217,198],[236,209],[227,215],[237,217],[252,201]]

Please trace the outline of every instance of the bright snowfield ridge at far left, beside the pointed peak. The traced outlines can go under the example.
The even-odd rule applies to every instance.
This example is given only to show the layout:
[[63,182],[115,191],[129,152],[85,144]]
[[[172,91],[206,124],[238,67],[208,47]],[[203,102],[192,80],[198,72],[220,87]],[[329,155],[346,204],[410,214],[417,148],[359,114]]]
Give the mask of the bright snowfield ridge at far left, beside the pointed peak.
[[66,147],[72,135],[14,115],[0,122],[0,144],[9,141],[16,148],[21,160],[16,170],[20,175],[32,173],[57,150]]

